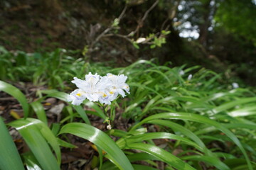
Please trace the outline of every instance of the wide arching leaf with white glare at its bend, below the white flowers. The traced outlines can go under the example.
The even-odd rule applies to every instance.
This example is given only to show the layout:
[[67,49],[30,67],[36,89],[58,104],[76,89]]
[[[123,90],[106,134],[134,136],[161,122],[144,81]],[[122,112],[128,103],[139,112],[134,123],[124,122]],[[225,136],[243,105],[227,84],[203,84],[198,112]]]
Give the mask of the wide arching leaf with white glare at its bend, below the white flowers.
[[132,164],[130,164],[124,152],[119,149],[116,143],[105,132],[84,123],[68,123],[61,128],[59,134],[63,133],[77,135],[94,143],[97,147],[100,147],[100,149],[109,154],[110,160],[119,169],[133,169]]

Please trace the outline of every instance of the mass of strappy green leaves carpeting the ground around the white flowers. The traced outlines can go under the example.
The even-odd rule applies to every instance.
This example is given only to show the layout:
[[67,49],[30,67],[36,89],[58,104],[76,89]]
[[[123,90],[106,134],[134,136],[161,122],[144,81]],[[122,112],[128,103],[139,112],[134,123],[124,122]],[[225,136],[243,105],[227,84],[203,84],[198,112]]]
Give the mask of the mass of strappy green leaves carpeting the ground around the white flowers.
[[[164,162],[164,169],[256,169],[253,89],[234,89],[223,75],[199,66],[169,67],[139,60],[112,69],[88,64],[60,49],[46,58],[41,54],[17,54],[1,49],[2,56],[26,58],[22,65],[18,60],[10,63],[8,57],[1,57],[1,62],[6,63],[1,79],[48,84],[51,89],[38,89],[36,100],[28,102],[19,89],[0,81],[0,91],[16,98],[23,108],[23,118],[6,124],[0,120],[4,139],[0,142],[4,153],[0,154],[0,169],[23,169],[22,164],[26,169],[60,169],[62,149],[76,147],[66,140],[67,134],[96,146],[98,154],[92,169],[159,169],[159,162]],[[97,129],[88,116],[105,120],[106,115],[96,103],[85,101],[73,106],[67,102],[72,87],[65,82],[73,77],[83,79],[88,72],[127,75],[131,93],[115,102],[116,112],[129,121],[126,130],[117,129],[117,120],[112,130]],[[61,120],[53,124],[49,124],[43,109],[47,98],[65,103]],[[18,153],[8,127],[18,130],[28,152]]]

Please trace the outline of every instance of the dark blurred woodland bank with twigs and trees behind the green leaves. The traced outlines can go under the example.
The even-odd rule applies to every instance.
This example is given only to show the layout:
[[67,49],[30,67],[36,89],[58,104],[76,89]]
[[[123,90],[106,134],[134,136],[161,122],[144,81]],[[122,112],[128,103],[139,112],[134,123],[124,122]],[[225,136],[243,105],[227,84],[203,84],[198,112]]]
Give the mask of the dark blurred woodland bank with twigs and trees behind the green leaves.
[[255,0],[3,0],[0,45],[37,53],[60,47],[116,66],[151,58],[201,64],[254,86],[255,9]]

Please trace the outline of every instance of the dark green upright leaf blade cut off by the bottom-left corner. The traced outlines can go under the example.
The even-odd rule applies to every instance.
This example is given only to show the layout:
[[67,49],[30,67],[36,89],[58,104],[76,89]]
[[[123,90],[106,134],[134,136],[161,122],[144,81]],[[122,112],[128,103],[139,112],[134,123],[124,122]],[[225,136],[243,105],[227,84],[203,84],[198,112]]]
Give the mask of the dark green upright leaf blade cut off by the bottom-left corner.
[[11,138],[4,121],[0,117],[0,169],[1,170],[22,170],[23,164],[18,154],[16,145]]

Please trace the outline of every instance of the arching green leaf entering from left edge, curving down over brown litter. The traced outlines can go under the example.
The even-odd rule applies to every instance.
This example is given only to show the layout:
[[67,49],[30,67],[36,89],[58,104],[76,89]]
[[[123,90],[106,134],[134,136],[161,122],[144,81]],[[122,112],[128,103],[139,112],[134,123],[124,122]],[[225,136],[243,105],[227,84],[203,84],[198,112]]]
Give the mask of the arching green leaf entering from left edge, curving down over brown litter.
[[10,94],[14,98],[16,98],[18,102],[21,103],[24,117],[25,118],[28,117],[28,112],[29,112],[28,101],[26,100],[26,97],[21,93],[19,89],[17,89],[15,86],[12,86],[11,84],[7,84],[4,81],[0,81],[0,91],[4,91],[7,94]]

